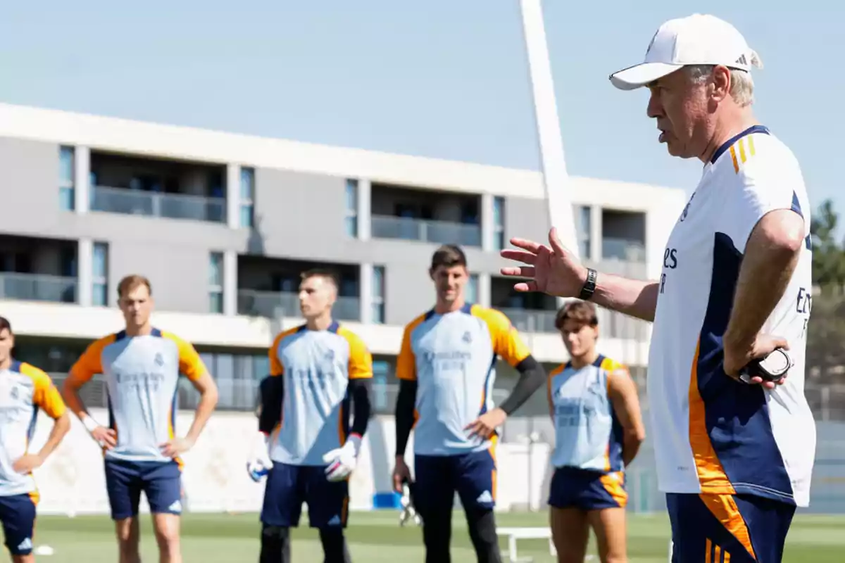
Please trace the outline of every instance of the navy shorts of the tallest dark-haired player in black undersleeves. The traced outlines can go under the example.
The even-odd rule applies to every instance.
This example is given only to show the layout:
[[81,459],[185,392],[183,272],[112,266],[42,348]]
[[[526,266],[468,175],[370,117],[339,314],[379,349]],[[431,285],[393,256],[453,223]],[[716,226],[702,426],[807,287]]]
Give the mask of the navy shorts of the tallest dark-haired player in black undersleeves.
[[414,455],[414,506],[423,520],[451,512],[455,492],[466,509],[496,506],[496,460],[490,450],[456,456]]

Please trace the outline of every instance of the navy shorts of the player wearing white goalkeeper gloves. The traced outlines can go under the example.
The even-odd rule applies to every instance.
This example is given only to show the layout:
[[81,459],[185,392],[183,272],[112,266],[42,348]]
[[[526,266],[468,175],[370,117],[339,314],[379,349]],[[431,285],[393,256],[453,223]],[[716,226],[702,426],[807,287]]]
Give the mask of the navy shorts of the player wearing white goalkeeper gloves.
[[296,528],[308,505],[311,528],[346,528],[349,483],[325,478],[324,465],[273,463],[264,486],[261,522],[268,526]]

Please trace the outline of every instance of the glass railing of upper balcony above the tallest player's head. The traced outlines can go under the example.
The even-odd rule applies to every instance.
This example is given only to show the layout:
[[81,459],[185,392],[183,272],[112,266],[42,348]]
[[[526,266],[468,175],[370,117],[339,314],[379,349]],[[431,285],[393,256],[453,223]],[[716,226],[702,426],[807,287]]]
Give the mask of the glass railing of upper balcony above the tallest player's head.
[[481,246],[481,227],[478,225],[373,215],[370,229],[373,238]]

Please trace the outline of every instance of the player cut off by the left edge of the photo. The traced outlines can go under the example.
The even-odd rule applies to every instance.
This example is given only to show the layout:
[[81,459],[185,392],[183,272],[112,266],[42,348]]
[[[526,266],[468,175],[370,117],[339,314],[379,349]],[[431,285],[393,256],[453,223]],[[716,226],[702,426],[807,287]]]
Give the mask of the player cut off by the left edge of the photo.
[[[32,477],[70,430],[70,417],[50,376],[14,360],[14,333],[0,317],[0,524],[13,563],[34,563],[32,538],[38,488]],[[41,450],[29,452],[38,410],[54,420]]]

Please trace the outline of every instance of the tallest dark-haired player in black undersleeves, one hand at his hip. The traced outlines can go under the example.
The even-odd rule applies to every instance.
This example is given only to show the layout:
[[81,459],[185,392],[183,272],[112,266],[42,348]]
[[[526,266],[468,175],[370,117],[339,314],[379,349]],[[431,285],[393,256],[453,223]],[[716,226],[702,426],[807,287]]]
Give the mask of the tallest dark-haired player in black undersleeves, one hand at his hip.
[[[479,563],[499,563],[495,506],[496,429],[542,387],[546,373],[507,317],[466,303],[469,279],[461,248],[441,246],[429,275],[437,293],[431,311],[405,328],[396,376],[394,488],[411,478],[405,449],[414,430],[414,499],[423,518],[427,563],[449,563],[452,506],[461,497]],[[497,408],[491,394],[498,356],[520,372]],[[418,419],[415,423],[416,415]]]

